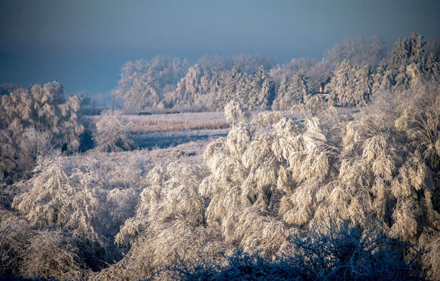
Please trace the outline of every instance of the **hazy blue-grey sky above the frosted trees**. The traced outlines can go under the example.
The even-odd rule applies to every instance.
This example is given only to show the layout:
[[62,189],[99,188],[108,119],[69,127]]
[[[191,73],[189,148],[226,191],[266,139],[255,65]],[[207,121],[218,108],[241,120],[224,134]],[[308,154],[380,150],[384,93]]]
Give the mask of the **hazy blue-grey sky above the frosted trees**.
[[321,58],[344,38],[440,36],[438,0],[0,0],[0,84],[109,92],[128,60]]

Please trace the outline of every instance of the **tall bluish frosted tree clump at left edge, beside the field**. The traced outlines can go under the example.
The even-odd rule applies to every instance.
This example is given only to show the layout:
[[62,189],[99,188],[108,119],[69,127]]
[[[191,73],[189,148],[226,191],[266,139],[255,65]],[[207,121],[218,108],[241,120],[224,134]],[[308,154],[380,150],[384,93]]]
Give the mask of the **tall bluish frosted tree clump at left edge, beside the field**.
[[57,82],[1,96],[0,173],[13,178],[26,173],[48,148],[76,151],[84,131],[78,109],[79,99],[66,99]]

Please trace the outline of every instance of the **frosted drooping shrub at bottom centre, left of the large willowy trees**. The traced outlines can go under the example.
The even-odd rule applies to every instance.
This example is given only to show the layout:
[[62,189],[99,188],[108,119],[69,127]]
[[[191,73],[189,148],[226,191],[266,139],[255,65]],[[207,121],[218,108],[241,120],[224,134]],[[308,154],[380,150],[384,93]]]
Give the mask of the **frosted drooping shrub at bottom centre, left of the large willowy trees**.
[[137,280],[180,259],[200,261],[224,252],[227,247],[204,221],[206,202],[198,184],[206,175],[202,167],[175,163],[150,170],[135,216],[116,235],[116,243],[131,250],[98,278]]

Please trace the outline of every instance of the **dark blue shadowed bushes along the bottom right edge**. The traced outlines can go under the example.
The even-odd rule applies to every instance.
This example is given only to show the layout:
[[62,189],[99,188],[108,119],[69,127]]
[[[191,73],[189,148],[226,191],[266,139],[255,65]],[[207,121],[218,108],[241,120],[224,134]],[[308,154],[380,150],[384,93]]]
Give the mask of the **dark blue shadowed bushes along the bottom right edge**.
[[222,264],[181,261],[156,274],[172,280],[430,280],[419,263],[425,250],[376,229],[331,221],[320,228],[305,238],[291,236],[292,250],[275,258],[238,250]]

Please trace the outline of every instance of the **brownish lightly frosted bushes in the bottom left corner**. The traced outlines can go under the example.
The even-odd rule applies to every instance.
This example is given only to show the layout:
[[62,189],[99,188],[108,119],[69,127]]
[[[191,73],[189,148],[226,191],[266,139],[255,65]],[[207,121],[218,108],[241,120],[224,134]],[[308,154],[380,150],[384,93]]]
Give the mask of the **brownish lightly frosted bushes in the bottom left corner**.
[[85,278],[88,270],[74,239],[60,230],[35,230],[10,211],[0,215],[0,276]]

